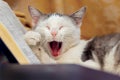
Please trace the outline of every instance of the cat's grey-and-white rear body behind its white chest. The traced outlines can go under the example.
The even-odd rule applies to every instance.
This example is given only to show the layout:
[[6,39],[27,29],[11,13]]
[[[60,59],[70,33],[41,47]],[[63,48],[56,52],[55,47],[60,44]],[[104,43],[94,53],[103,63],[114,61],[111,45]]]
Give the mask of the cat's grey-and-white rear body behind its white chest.
[[82,61],[93,60],[99,70],[120,76],[120,33],[95,37],[88,42],[81,56]]

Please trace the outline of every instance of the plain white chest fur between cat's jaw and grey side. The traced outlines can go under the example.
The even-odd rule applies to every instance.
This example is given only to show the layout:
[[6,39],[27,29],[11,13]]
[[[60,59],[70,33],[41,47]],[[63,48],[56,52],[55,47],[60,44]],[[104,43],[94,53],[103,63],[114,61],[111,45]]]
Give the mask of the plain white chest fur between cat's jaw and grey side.
[[77,63],[81,64],[81,54],[83,53],[84,46],[86,45],[86,41],[80,40],[79,44],[73,46],[68,51],[66,51],[61,58],[57,60],[58,63]]

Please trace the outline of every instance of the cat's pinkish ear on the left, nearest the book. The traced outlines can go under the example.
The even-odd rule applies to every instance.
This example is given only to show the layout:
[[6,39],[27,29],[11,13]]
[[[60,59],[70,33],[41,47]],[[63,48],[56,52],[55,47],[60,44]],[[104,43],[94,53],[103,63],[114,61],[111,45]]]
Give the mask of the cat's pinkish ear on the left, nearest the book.
[[28,6],[28,10],[29,10],[30,15],[32,17],[32,26],[34,27],[34,26],[36,26],[40,17],[42,17],[44,14],[32,6]]

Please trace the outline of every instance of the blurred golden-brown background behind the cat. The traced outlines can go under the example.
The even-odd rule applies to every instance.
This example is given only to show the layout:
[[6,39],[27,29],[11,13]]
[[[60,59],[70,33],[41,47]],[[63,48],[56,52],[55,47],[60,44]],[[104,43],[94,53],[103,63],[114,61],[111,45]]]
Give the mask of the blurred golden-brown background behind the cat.
[[44,13],[59,12],[71,14],[87,6],[83,20],[82,37],[120,32],[120,0],[5,0],[13,10],[26,14],[31,21],[27,6],[32,5]]

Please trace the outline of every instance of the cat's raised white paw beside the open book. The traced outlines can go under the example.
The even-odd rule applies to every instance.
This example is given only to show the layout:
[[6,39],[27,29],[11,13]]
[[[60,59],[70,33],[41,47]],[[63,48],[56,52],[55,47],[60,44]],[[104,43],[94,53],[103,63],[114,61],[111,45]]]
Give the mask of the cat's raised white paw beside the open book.
[[38,42],[40,42],[41,39],[41,35],[38,32],[34,32],[34,31],[28,31],[25,35],[24,35],[24,39],[27,42],[28,45],[37,45]]

